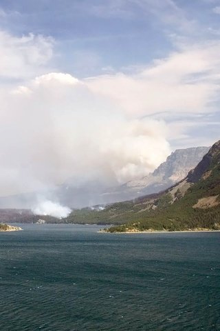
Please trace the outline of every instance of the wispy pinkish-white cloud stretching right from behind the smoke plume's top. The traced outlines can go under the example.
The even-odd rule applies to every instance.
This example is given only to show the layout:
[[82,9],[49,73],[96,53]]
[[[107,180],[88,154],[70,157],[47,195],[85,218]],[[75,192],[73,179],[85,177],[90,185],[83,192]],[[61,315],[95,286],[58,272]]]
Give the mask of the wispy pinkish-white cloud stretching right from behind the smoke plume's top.
[[85,83],[111,97],[131,117],[157,112],[208,112],[219,96],[219,41],[181,45],[135,75],[102,75]]

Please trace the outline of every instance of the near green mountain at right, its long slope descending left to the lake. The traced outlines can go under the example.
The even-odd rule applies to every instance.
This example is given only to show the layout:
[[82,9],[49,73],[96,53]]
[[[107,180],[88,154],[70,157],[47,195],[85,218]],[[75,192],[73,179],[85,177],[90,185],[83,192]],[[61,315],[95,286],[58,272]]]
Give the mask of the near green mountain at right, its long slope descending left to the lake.
[[220,229],[220,141],[185,179],[158,194],[73,212],[68,222],[122,224],[109,232]]

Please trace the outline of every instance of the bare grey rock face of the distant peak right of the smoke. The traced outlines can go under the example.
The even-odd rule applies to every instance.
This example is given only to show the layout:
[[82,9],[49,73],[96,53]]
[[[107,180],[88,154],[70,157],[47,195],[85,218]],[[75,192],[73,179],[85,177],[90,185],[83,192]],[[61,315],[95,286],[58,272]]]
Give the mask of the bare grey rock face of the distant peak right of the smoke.
[[175,150],[153,173],[142,179],[129,181],[116,188],[115,192],[109,192],[109,195],[117,194],[118,198],[120,197],[118,201],[122,201],[122,199],[133,199],[141,195],[166,190],[166,188],[184,179],[208,150],[208,147]]

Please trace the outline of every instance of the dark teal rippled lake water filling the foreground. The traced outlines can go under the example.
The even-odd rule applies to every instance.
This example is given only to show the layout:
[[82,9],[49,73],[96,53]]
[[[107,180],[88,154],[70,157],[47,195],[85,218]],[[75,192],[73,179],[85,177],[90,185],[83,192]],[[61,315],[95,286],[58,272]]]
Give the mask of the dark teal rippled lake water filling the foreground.
[[0,233],[0,330],[220,330],[220,232]]

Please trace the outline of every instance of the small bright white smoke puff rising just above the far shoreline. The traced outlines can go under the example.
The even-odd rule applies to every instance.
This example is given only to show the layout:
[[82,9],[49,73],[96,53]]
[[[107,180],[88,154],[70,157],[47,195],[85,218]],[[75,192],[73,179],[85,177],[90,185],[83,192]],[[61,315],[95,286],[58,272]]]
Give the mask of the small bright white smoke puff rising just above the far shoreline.
[[32,212],[36,215],[48,215],[63,219],[71,213],[71,209],[50,200],[39,202],[39,204],[32,209]]

